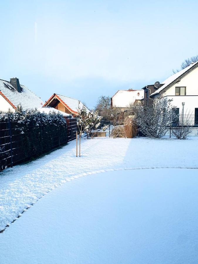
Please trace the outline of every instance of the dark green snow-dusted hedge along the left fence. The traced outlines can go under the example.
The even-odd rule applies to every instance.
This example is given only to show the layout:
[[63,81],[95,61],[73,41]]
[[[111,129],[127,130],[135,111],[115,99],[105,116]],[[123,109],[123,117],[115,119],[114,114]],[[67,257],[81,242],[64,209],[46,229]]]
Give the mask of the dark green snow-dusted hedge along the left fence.
[[[0,112],[0,124],[5,124],[6,128],[0,135],[0,154],[4,153],[7,163],[11,153],[8,137],[10,131],[14,161],[38,157],[67,142],[67,123],[61,114],[54,111],[49,114],[40,113],[37,109],[23,111],[18,106],[15,113]],[[3,157],[0,156],[2,160]],[[2,166],[5,165],[0,164],[0,170],[3,169]]]

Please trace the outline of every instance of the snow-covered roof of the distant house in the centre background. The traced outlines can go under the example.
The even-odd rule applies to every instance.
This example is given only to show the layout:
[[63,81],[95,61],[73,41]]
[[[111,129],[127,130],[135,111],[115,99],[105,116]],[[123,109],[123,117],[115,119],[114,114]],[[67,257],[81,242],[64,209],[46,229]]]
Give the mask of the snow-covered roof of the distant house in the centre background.
[[143,90],[118,90],[112,96],[113,107],[128,107],[133,104],[135,100],[141,100],[144,97]]

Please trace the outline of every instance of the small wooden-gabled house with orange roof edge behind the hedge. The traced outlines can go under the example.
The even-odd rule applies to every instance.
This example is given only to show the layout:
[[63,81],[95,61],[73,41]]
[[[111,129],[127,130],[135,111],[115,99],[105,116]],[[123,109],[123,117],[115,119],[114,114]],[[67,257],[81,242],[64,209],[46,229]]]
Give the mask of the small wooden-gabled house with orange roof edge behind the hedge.
[[[78,99],[67,97],[60,94],[53,94],[48,101],[45,102],[44,106],[50,106],[64,113],[70,114],[73,117],[76,116],[78,107],[82,108],[84,104]],[[85,106],[86,110],[89,109]]]

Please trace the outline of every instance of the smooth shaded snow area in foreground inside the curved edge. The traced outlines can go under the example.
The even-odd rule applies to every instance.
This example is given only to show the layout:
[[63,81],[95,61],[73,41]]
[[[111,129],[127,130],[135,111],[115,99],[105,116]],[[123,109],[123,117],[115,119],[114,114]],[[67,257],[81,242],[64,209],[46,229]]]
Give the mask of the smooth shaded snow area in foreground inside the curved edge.
[[0,263],[197,263],[197,176],[122,170],[67,182],[1,234]]

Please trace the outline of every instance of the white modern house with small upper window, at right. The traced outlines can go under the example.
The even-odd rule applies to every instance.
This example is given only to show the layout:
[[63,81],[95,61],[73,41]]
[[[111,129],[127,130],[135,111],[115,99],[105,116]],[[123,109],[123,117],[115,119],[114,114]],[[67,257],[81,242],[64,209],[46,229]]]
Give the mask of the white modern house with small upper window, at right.
[[172,105],[176,106],[176,114],[190,113],[195,115],[195,123],[198,121],[198,61],[167,78],[158,88],[148,85],[142,89],[144,101],[161,94],[173,100]]

